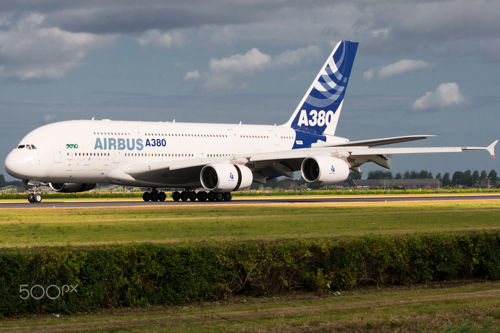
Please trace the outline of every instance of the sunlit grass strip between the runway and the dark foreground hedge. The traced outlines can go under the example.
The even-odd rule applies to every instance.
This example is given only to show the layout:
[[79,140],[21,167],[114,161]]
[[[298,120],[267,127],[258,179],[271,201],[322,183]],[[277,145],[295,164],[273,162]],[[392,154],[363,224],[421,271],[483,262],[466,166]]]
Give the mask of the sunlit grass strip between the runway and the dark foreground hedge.
[[0,247],[500,229],[500,202],[0,210]]

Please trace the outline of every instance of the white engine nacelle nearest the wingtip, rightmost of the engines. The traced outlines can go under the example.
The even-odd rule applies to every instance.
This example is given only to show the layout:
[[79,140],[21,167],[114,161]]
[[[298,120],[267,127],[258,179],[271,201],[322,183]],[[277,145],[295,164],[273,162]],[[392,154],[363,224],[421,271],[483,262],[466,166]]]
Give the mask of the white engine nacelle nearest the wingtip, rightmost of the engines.
[[339,158],[331,156],[307,157],[300,166],[305,181],[319,185],[343,182],[349,176],[349,166]]

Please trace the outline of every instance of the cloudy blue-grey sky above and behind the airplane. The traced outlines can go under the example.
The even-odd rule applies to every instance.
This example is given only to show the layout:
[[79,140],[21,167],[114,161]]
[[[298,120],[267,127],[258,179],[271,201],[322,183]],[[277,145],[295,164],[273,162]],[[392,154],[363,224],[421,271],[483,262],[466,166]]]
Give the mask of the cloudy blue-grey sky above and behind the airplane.
[[[59,120],[282,124],[342,39],[359,47],[336,135],[487,146],[500,138],[498,17],[498,0],[2,0],[0,159]],[[393,156],[392,171],[498,161]]]

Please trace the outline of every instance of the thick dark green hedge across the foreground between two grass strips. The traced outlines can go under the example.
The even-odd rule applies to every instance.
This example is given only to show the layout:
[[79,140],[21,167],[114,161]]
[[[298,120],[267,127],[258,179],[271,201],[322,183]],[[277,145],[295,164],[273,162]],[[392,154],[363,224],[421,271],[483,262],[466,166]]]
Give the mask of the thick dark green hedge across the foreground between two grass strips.
[[[0,314],[179,305],[360,283],[500,280],[500,231],[0,249]],[[24,285],[24,287],[20,287]],[[76,286],[54,300],[41,287]],[[57,290],[49,289],[55,298]]]

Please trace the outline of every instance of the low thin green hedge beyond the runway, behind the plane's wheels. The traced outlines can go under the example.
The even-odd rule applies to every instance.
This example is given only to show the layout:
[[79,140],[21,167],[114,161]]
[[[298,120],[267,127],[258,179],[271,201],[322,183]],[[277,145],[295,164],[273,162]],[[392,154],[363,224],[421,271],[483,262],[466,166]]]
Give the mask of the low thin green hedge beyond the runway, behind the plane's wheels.
[[[45,199],[69,199],[69,198],[142,198],[143,192],[135,193],[47,193],[42,197]],[[165,192],[167,197],[171,196],[170,192]],[[449,193],[500,193],[500,189],[490,190],[352,190],[352,191],[275,191],[271,193],[262,192],[232,192],[236,197],[256,197],[256,196],[289,196],[289,195],[374,195],[374,194],[449,194]],[[0,194],[1,199],[27,199],[28,193],[12,193]]]

